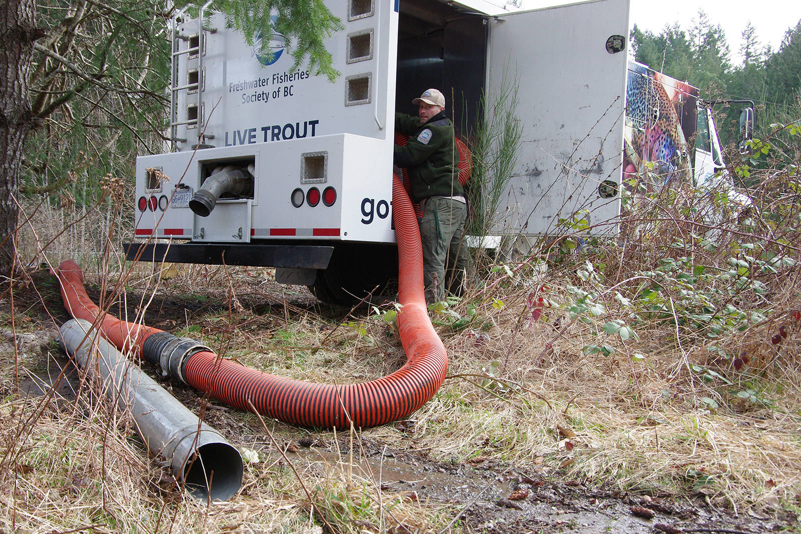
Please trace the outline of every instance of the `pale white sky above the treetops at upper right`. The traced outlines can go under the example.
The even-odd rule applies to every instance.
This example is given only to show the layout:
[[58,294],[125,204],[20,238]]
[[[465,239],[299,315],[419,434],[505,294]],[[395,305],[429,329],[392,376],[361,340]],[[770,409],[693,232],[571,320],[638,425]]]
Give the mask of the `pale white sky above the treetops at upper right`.
[[[665,6],[670,6],[667,10]],[[739,49],[743,42],[742,34],[747,23],[756,30],[756,37],[763,45],[771,45],[771,50],[779,50],[784,32],[795,26],[801,19],[799,0],[631,0],[629,24],[641,30],[658,34],[665,24],[678,22],[682,30],[689,30],[698,18],[698,9],[706,13],[713,26],[718,24],[726,32],[733,62],[739,62]],[[665,14],[665,11],[667,14]]]

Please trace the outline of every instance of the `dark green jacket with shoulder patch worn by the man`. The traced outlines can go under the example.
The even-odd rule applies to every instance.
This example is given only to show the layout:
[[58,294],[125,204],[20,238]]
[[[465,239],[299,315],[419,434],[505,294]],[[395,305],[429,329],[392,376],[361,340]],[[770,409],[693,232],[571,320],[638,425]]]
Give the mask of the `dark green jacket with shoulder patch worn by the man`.
[[419,117],[396,113],[395,130],[409,135],[405,147],[395,146],[394,163],[409,171],[411,197],[464,195],[457,179],[459,151],[453,143],[453,122],[438,113],[424,124]]

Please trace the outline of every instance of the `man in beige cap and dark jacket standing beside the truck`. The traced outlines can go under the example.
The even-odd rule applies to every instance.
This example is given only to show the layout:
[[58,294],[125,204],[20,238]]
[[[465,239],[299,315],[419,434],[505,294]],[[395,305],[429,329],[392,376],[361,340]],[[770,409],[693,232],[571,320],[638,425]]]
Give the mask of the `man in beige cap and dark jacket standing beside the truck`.
[[428,89],[412,103],[417,105],[417,117],[395,114],[395,130],[409,135],[409,142],[395,146],[393,160],[409,172],[410,196],[423,211],[418,223],[425,300],[434,303],[445,299],[448,263],[455,264],[458,279],[467,268],[467,246],[461,242],[467,203],[458,180],[459,152],[453,141],[453,122],[445,117],[445,97],[439,90]]

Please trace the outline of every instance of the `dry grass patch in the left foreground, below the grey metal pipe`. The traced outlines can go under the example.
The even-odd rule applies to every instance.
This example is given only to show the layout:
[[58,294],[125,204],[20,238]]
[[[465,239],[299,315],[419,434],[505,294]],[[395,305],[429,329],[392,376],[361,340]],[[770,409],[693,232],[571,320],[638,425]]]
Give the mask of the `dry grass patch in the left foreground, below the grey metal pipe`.
[[[372,473],[352,468],[348,458],[308,464],[299,479],[275,450],[246,463],[235,499],[196,502],[168,466],[147,458],[126,416],[108,413],[104,401],[87,404],[91,397],[84,391],[74,404],[2,401],[0,532],[311,534],[328,522],[337,532],[416,533],[431,526],[432,514],[416,500],[380,492]],[[302,497],[304,487],[311,499]]]

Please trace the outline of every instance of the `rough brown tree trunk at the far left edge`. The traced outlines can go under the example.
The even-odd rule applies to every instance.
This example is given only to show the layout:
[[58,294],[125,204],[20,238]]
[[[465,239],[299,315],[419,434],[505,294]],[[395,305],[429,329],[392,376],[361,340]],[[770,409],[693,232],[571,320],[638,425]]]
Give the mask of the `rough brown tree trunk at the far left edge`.
[[0,275],[11,275],[19,219],[22,148],[33,126],[28,77],[33,61],[35,0],[0,4]]

